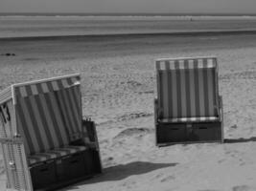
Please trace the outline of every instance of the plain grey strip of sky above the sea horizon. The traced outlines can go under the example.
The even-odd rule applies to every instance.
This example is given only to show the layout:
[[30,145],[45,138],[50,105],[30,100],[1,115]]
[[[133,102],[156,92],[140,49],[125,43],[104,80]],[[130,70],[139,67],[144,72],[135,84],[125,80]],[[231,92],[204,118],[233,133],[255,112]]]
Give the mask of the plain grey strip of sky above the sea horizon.
[[0,0],[0,12],[256,13],[256,0]]

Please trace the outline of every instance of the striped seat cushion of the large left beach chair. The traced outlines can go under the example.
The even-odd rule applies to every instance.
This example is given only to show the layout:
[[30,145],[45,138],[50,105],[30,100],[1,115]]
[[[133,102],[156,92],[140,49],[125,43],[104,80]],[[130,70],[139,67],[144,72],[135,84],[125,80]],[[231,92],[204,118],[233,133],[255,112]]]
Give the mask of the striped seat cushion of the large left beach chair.
[[64,156],[78,153],[85,150],[86,150],[85,146],[65,146],[62,148],[46,151],[44,153],[36,153],[35,155],[31,155],[28,157],[29,165],[35,164],[37,162],[46,161],[48,159],[57,159],[60,157],[64,157]]

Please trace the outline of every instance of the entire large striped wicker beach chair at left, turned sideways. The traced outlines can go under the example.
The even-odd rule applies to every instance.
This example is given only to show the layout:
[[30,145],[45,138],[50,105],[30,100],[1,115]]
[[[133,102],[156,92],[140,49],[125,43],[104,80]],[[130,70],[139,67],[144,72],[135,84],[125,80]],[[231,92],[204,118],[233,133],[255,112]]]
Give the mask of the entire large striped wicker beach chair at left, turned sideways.
[[82,118],[80,84],[72,74],[0,93],[7,190],[55,190],[102,172],[94,122]]

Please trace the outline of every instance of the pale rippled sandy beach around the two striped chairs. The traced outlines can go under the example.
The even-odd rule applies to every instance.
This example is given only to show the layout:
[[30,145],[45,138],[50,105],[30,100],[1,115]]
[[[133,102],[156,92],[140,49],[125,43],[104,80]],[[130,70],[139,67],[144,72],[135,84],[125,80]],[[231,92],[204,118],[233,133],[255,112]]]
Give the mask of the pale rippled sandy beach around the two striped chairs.
[[[0,45],[0,90],[81,74],[82,112],[97,123],[105,169],[63,191],[256,190],[256,34],[15,38]],[[225,143],[158,148],[154,60],[203,55],[219,59]],[[0,166],[4,190],[2,156]]]

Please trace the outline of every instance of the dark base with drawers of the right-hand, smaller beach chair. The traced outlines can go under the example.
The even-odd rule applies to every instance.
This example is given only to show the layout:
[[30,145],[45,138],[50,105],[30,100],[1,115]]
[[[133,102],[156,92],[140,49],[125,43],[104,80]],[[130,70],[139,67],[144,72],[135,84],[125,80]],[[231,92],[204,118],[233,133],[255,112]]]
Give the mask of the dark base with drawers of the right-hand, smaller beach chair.
[[156,145],[175,143],[222,142],[221,122],[158,123]]

